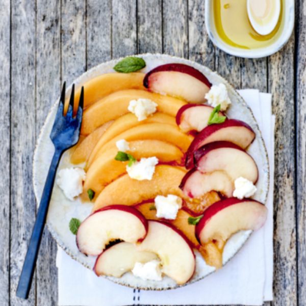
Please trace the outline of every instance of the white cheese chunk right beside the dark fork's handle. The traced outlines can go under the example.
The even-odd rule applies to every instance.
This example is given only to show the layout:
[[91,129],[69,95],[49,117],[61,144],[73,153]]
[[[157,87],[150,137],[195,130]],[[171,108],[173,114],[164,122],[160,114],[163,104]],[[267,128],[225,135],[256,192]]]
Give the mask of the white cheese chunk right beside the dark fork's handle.
[[57,185],[63,190],[64,195],[70,201],[83,192],[83,181],[86,179],[86,172],[78,167],[65,168],[60,170]]

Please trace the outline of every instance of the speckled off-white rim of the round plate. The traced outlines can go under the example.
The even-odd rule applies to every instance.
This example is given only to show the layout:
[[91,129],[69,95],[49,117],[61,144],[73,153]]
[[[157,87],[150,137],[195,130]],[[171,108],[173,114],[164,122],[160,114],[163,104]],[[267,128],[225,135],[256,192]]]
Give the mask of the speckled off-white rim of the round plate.
[[[265,185],[265,194],[264,194],[264,197],[263,197],[263,202],[265,203],[266,200],[267,200],[267,195],[268,195],[268,188],[269,188],[269,163],[268,163],[268,155],[267,155],[267,150],[266,150],[266,147],[265,147],[265,144],[264,144],[264,141],[263,141],[263,138],[262,138],[262,134],[261,134],[261,131],[259,130],[259,127],[258,127],[258,124],[257,124],[257,121],[256,119],[254,118],[253,116],[253,113],[251,111],[251,109],[248,107],[248,105],[245,103],[245,101],[243,100],[243,98],[239,95],[239,93],[233,88],[233,86],[228,83],[224,78],[222,78],[220,75],[218,75],[216,72],[212,71],[211,69],[209,69],[208,67],[205,67],[205,66],[202,66],[194,61],[190,61],[190,60],[187,60],[187,59],[183,59],[183,58],[179,58],[179,57],[174,57],[174,56],[169,56],[169,55],[162,55],[162,54],[141,54],[141,55],[135,55],[135,56],[138,56],[138,57],[142,57],[143,59],[145,60],[149,60],[150,57],[153,57],[153,58],[162,58],[163,60],[169,60],[170,62],[177,62],[177,63],[184,63],[184,64],[187,64],[187,65],[191,65],[193,66],[194,68],[200,70],[201,72],[207,74],[211,74],[211,75],[216,75],[218,76],[218,78],[221,80],[222,83],[224,83],[228,88],[230,88],[230,90],[232,91],[232,93],[234,93],[236,95],[236,97],[238,98],[238,100],[240,101],[240,103],[242,103],[245,108],[248,110],[249,114],[251,115],[252,117],[252,120],[254,121],[255,125],[256,125],[256,134],[257,134],[257,140],[260,142],[260,146],[264,149],[264,155],[265,155],[265,163],[266,163],[266,166],[267,166],[267,169],[266,169],[266,181],[267,181],[267,184]],[[74,80],[74,84],[75,84],[75,87],[78,88],[80,87],[82,84],[84,84],[86,81],[88,81],[89,79],[93,78],[95,75],[99,75],[101,73],[98,73],[98,71],[100,69],[103,69],[104,66],[106,65],[112,65],[114,66],[117,62],[119,62],[122,58],[119,58],[119,59],[115,59],[115,60],[112,60],[112,61],[108,61],[108,62],[104,62],[104,63],[101,63],[93,68],[91,68],[90,70],[86,71],[85,73],[83,73],[82,75],[80,75],[79,78],[75,79]],[[115,72],[115,71],[114,71]],[[105,72],[104,72],[105,73]],[[93,74],[93,75],[92,75]],[[87,80],[86,77],[88,77],[88,75],[91,75],[91,77]],[[72,84],[67,87],[66,89],[66,96],[69,96],[70,94],[70,91],[71,91],[71,88],[72,88]],[[60,98],[60,97],[59,97]],[[53,107],[51,108],[50,112],[48,113],[47,117],[46,117],[46,120],[42,126],[42,129],[40,131],[40,135],[38,137],[38,140],[37,140],[37,144],[36,144],[36,148],[35,148],[35,152],[34,152],[34,158],[33,158],[33,185],[34,185],[34,193],[35,193],[35,196],[36,196],[36,199],[37,199],[37,202],[39,203],[40,202],[40,195],[39,195],[39,191],[38,191],[38,185],[41,185],[41,184],[44,184],[44,182],[37,182],[36,181],[36,171],[37,171],[37,161],[38,161],[38,156],[39,156],[39,147],[40,147],[40,143],[42,141],[42,134],[43,134],[43,131],[46,129],[46,125],[49,123],[49,120],[50,120],[50,117],[52,117],[52,114],[53,112],[55,111],[55,108],[57,108],[58,106],[58,103],[59,103],[59,98],[56,100],[55,104],[53,105]],[[53,122],[52,122],[53,123]],[[254,129],[254,126],[253,126],[253,129]],[[76,256],[74,256],[73,252],[67,247],[65,246],[65,244],[63,243],[63,241],[60,239],[60,237],[58,236],[58,234],[56,233],[56,231],[54,230],[53,228],[53,225],[47,220],[46,222],[46,225],[47,225],[47,228],[50,232],[50,234],[52,235],[52,237],[56,240],[56,242],[58,243],[58,245],[71,257],[73,258],[74,260],[78,261],[79,263],[81,263],[83,266],[87,267],[88,269],[92,270],[91,267],[89,267],[86,263],[82,262],[80,259],[78,259]],[[230,261],[234,256],[235,254],[242,248],[242,246],[246,243],[246,241],[249,239],[249,237],[251,236],[252,234],[252,231],[243,231],[244,234],[241,235],[242,237],[242,240],[240,241],[240,245],[238,247],[235,248],[235,251],[233,252],[233,254],[227,258],[227,260],[223,261],[223,266],[228,262]],[[200,281],[201,279],[205,278],[206,276],[210,275],[211,273],[213,273],[215,271],[215,269],[211,270],[210,272],[208,272],[207,274],[205,275],[200,275],[198,277],[193,277],[188,283],[184,284],[184,285],[168,285],[168,287],[160,287],[160,286],[156,286],[156,287],[150,287],[150,286],[143,286],[143,285],[130,285],[130,284],[127,284],[125,282],[122,282],[120,281],[122,277],[120,278],[116,278],[116,277],[111,277],[111,276],[105,276],[103,275],[103,277],[109,279],[110,281],[114,282],[114,283],[117,283],[117,284],[120,284],[120,285],[123,285],[123,286],[126,286],[126,287],[131,287],[131,288],[134,288],[134,289],[142,289],[142,290],[169,290],[169,289],[176,289],[176,288],[181,288],[181,287],[184,287],[184,286],[187,286],[187,285],[190,285],[190,284],[193,284],[197,281]]]

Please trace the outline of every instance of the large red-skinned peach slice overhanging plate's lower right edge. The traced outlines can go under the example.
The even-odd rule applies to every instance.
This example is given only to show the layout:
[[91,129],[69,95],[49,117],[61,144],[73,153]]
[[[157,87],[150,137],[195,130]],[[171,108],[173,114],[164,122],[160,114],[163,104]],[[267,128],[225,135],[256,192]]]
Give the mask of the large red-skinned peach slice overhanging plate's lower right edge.
[[259,230],[267,219],[268,210],[260,202],[236,198],[214,203],[203,212],[195,235],[205,245],[213,240],[226,241],[241,230]]

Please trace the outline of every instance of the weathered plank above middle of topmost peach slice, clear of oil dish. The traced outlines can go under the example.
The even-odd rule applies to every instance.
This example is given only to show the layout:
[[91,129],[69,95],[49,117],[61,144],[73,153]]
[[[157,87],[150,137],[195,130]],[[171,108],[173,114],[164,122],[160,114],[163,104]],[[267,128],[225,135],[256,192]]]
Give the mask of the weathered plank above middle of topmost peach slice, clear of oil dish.
[[163,1],[163,52],[187,58],[188,6],[186,0]]

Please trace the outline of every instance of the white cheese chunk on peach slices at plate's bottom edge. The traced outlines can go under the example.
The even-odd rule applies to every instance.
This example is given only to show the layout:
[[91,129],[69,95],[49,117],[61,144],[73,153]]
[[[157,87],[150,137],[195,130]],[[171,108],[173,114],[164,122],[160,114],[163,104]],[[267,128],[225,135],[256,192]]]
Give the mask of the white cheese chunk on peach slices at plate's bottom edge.
[[132,270],[135,276],[138,276],[144,280],[151,279],[152,281],[162,280],[161,262],[158,260],[152,260],[148,263],[136,263]]

